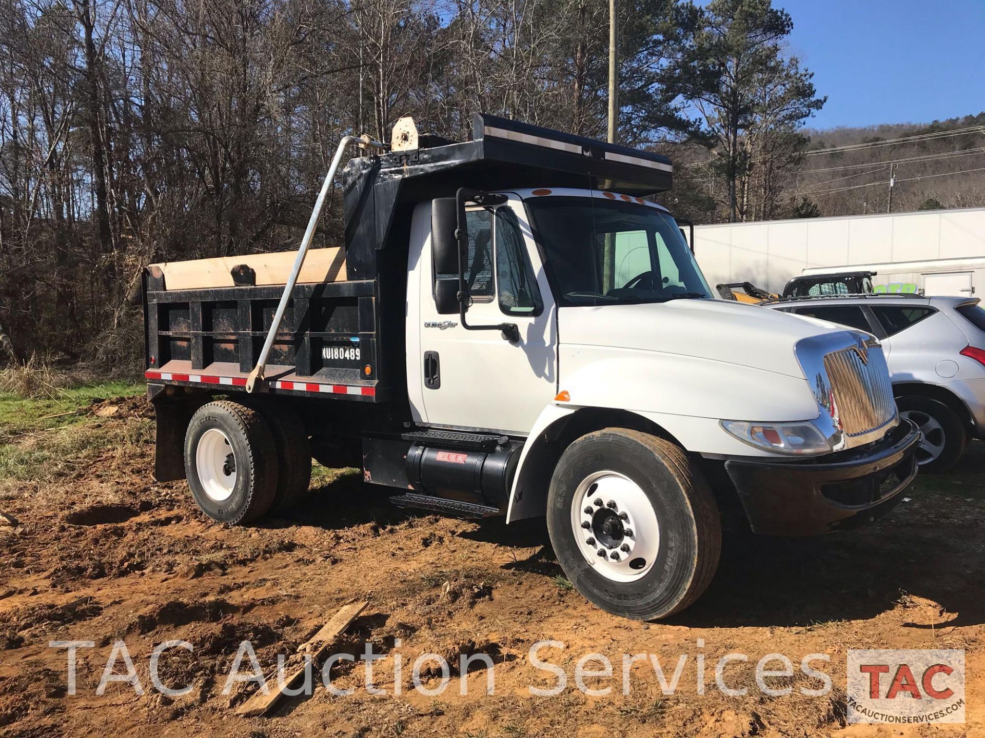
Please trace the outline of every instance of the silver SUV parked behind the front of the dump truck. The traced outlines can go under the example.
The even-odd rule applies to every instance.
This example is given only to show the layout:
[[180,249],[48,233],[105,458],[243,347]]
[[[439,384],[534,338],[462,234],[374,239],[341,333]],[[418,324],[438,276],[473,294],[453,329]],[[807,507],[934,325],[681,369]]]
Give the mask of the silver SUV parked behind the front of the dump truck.
[[985,437],[985,309],[977,297],[832,295],[761,304],[882,341],[899,414],[923,431],[921,469],[943,471],[969,439]]

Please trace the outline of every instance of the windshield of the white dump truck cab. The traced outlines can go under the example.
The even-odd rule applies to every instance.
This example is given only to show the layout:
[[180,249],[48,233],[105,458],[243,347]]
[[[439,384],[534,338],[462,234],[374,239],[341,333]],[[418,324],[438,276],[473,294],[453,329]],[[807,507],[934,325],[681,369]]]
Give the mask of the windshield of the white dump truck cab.
[[711,298],[670,215],[587,197],[526,201],[561,305]]

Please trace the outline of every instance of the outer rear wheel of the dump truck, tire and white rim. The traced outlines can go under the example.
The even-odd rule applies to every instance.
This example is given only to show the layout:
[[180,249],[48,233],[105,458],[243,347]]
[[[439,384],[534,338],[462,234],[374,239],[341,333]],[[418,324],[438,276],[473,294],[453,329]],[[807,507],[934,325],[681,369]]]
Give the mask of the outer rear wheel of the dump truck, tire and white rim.
[[274,436],[254,408],[230,400],[202,405],[188,423],[185,475],[198,507],[228,525],[270,510],[277,493]]

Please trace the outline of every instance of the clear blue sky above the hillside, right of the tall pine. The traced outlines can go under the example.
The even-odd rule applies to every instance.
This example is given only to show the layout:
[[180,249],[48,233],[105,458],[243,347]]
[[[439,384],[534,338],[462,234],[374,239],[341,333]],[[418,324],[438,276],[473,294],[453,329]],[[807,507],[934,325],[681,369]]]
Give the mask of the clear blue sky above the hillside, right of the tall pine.
[[985,110],[985,0],[773,0],[827,104],[812,128]]

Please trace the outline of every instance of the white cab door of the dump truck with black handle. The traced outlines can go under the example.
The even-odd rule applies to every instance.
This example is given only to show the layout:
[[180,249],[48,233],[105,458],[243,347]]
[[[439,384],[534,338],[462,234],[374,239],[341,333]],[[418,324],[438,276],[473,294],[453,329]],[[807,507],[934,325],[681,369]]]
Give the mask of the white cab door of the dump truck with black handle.
[[470,208],[466,215],[472,295],[466,321],[513,323],[520,339],[468,331],[458,315],[437,312],[428,235],[418,270],[421,419],[446,428],[526,434],[558,393],[554,300],[517,196],[495,209]]

